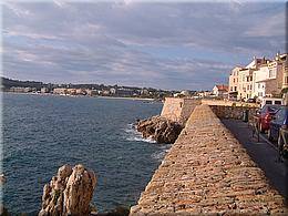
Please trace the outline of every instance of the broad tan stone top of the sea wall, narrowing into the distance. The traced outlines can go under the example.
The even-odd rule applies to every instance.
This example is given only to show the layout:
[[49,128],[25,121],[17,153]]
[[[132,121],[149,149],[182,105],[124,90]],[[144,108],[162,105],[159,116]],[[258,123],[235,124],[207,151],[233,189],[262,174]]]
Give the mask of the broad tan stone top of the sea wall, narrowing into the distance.
[[198,105],[131,215],[287,214],[271,188],[208,105]]

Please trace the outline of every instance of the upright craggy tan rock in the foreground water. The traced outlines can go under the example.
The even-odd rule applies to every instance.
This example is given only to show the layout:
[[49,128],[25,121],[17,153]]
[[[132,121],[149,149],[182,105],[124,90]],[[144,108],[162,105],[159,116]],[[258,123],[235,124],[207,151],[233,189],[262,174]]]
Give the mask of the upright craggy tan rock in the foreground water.
[[93,171],[79,164],[63,165],[50,184],[45,184],[39,216],[89,215],[90,202],[96,185]]

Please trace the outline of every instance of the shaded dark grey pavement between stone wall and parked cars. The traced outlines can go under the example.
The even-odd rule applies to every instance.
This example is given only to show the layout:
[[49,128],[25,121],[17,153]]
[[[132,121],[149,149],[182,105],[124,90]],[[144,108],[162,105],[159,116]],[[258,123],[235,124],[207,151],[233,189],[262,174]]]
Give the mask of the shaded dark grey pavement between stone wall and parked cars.
[[222,120],[223,124],[246,148],[251,160],[265,172],[270,184],[288,199],[288,161],[279,161],[277,143],[270,142],[266,134],[253,137],[251,126],[239,120]]

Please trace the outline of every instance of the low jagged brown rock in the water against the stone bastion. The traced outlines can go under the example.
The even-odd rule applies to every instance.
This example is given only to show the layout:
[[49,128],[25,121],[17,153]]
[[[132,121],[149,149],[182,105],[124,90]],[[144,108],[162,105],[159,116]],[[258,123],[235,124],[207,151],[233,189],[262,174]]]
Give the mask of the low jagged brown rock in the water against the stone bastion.
[[184,126],[178,122],[156,115],[138,121],[135,127],[145,138],[152,138],[157,143],[175,143]]

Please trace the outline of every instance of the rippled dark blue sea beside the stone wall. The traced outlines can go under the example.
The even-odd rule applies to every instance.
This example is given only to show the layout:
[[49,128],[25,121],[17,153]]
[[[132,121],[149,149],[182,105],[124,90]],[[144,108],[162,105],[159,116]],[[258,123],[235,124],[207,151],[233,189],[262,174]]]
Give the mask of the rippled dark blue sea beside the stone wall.
[[63,164],[97,176],[93,204],[105,212],[136,203],[169,145],[145,141],[132,124],[162,103],[40,94],[2,95],[3,204],[35,215],[44,184]]

